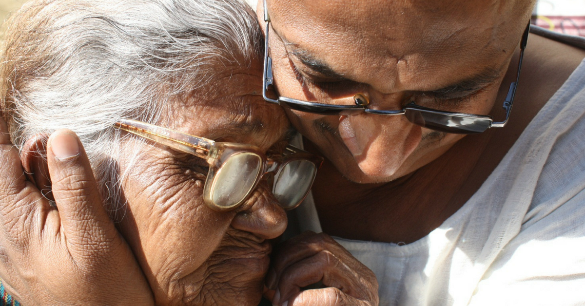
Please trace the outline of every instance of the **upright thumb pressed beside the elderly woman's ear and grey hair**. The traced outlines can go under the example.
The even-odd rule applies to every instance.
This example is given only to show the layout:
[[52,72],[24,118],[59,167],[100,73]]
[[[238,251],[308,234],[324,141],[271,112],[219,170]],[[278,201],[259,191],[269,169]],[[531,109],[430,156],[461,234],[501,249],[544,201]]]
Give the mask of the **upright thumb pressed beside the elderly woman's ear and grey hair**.
[[71,130],[57,130],[49,137],[47,161],[53,197],[67,243],[88,249],[101,249],[117,237],[117,231],[104,208],[90,161],[80,140]]

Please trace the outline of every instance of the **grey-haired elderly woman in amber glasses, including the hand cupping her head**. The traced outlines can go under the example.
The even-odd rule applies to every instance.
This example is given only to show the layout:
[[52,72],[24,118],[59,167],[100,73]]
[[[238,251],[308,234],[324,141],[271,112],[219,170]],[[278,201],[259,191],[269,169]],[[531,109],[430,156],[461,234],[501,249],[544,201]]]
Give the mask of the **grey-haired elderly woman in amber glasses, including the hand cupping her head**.
[[[13,17],[2,110],[28,180],[1,186],[0,278],[17,300],[257,304],[268,239],[320,163],[262,99],[260,42],[231,0],[45,0]],[[0,136],[0,175],[16,176]]]

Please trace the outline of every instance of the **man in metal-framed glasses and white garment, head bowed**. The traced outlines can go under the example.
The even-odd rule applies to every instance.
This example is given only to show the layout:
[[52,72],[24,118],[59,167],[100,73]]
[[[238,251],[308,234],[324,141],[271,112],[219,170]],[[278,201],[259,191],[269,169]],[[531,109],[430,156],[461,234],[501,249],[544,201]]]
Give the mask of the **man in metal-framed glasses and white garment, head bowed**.
[[[585,42],[531,29],[522,57],[534,2],[259,2],[266,99],[328,159],[300,229],[380,305],[585,301]],[[279,254],[275,305],[376,302],[325,235]]]

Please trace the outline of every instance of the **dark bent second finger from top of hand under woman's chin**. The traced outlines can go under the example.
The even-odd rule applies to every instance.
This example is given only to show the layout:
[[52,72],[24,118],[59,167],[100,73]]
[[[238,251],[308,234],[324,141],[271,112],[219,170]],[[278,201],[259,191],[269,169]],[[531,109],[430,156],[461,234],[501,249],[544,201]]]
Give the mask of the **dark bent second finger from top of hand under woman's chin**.
[[340,262],[331,252],[324,250],[283,271],[278,280],[278,290],[277,294],[274,294],[273,304],[280,305],[301,291],[301,288],[319,281],[326,287],[336,287],[353,296],[363,295],[360,288],[367,286],[355,271]]

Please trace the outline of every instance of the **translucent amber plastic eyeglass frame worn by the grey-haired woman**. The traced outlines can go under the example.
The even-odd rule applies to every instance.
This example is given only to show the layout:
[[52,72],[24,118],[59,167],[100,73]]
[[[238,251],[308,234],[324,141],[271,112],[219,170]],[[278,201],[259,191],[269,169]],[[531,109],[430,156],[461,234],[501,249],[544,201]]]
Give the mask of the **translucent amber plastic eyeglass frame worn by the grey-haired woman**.
[[[245,143],[215,142],[214,140],[204,137],[188,135],[175,130],[131,119],[121,120],[114,123],[113,126],[116,129],[125,130],[126,132],[142,136],[156,143],[160,143],[161,145],[171,147],[177,151],[205,159],[209,164],[209,171],[207,173],[207,178],[205,179],[203,198],[205,204],[216,211],[229,211],[238,208],[248,197],[250,197],[250,194],[252,194],[256,189],[257,184],[266,174],[273,174],[273,180],[278,180],[280,171],[283,170],[284,166],[288,163],[295,160],[309,161],[315,167],[314,171],[312,171],[312,173],[306,178],[306,180],[310,180],[307,190],[297,190],[298,192],[304,192],[302,197],[298,197],[300,198],[300,201],[292,205],[281,204],[285,209],[295,208],[302,202],[302,200],[304,200],[309,190],[311,190],[311,185],[315,180],[316,171],[321,167],[323,162],[322,157],[315,156],[314,154],[290,145],[285,148],[283,154],[275,157],[266,157],[266,155],[261,152],[260,148],[254,145],[248,145]],[[218,174],[221,173],[222,166],[228,163],[228,160],[242,153],[254,154],[261,160],[260,169],[253,178],[254,183],[250,185],[249,190],[246,191],[243,198],[235,199],[234,202],[229,205],[218,205],[212,200],[212,194],[215,192],[213,188],[216,185],[216,179],[220,176]],[[276,182],[274,185],[276,185]],[[295,186],[290,186],[288,188],[295,188]]]

